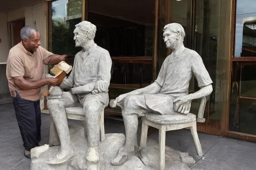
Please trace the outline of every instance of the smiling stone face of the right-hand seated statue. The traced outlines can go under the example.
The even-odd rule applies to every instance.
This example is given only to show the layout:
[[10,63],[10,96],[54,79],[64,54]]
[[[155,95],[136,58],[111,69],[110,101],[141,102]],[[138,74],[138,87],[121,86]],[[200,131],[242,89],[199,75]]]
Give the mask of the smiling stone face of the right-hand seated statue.
[[164,42],[166,44],[166,48],[175,48],[177,44],[177,33],[173,32],[170,28],[167,28],[164,31]]

